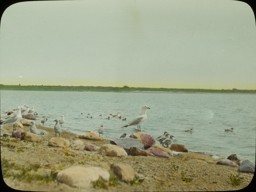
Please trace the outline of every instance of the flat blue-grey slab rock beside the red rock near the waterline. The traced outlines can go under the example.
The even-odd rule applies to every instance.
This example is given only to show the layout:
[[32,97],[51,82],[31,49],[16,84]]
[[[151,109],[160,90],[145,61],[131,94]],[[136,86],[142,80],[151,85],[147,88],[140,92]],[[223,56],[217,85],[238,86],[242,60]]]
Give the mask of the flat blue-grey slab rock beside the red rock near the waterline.
[[131,147],[144,149],[144,145],[139,140],[133,138],[111,139],[110,144],[123,147],[126,153],[129,152]]

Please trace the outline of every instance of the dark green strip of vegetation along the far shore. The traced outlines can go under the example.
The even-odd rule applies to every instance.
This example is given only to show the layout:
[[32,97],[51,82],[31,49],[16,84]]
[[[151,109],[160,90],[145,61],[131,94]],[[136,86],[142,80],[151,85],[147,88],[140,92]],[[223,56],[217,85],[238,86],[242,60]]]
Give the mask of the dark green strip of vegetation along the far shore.
[[141,87],[102,87],[102,86],[48,86],[48,85],[3,85],[0,90],[15,91],[91,91],[91,92],[186,92],[186,93],[256,93],[256,90],[240,89],[168,89]]

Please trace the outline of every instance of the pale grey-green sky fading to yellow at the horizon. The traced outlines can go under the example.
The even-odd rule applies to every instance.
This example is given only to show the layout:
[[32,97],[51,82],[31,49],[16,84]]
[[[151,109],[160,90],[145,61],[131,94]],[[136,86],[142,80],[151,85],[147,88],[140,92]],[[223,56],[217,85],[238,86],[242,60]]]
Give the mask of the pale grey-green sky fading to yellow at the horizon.
[[256,89],[255,74],[240,1],[31,1],[1,18],[4,85]]

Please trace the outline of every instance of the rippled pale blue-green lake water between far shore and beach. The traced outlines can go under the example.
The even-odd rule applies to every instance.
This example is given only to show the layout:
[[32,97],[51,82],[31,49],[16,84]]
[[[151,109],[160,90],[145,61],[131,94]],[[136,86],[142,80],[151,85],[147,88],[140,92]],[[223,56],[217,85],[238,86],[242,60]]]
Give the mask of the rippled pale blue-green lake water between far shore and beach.
[[[1,90],[0,99],[2,115],[27,104],[36,107],[37,122],[40,123],[42,116],[48,117],[45,126],[53,128],[53,120],[64,115],[63,129],[76,134],[98,133],[103,124],[106,139],[119,138],[123,133],[129,137],[136,132],[137,126],[121,127],[139,115],[142,105],[147,105],[150,109],[146,122],[140,126],[142,132],[157,138],[167,131],[174,136],[172,144],[185,145],[189,151],[223,158],[236,154],[241,161],[248,159],[255,163],[255,94]],[[117,111],[127,121],[117,117],[105,119]],[[233,132],[225,132],[232,127]],[[190,128],[192,133],[185,132]]]

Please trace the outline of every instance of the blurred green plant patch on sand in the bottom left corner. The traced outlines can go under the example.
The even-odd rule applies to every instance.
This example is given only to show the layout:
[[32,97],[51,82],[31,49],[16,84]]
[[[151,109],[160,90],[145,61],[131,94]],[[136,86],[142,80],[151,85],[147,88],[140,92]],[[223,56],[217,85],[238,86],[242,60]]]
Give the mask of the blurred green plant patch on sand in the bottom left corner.
[[57,172],[51,175],[40,174],[39,164],[33,164],[28,167],[16,166],[15,163],[8,163],[6,159],[1,160],[2,172],[4,178],[9,178],[11,180],[18,179],[19,181],[27,182],[39,182],[39,183],[49,183],[55,180]]

